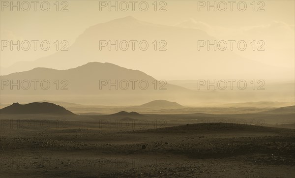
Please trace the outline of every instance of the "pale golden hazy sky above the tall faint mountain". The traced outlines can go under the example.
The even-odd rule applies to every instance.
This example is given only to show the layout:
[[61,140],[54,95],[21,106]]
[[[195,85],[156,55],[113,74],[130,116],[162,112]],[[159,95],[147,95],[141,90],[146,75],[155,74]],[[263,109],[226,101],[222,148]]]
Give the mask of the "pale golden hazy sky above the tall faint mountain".
[[[93,25],[125,16],[132,16],[140,21],[168,26],[175,26],[189,19],[193,19],[193,21],[205,23],[210,27],[210,29],[215,30],[213,34],[210,34],[212,31],[201,29],[216,38],[222,38],[222,36],[220,36],[222,30],[228,31],[228,34],[224,34],[225,39],[227,39],[229,34],[232,33],[227,29],[238,31],[258,27],[262,29],[269,28],[269,31],[271,31],[272,26],[276,26],[278,24],[282,27],[282,30],[278,31],[276,37],[282,40],[278,43],[271,44],[268,49],[273,50],[276,49],[276,47],[283,48],[283,50],[280,51],[280,53],[283,54],[283,51],[286,50],[285,48],[293,48],[294,46],[294,0],[264,0],[262,2],[264,3],[263,9],[265,9],[265,11],[257,11],[262,3],[256,4],[256,10],[253,11],[253,6],[251,5],[252,0],[244,0],[247,4],[247,8],[245,11],[239,11],[236,7],[236,3],[239,1],[236,1],[233,6],[233,11],[230,10],[230,6],[227,3],[227,10],[219,11],[217,9],[216,12],[213,11],[212,8],[210,11],[207,11],[206,7],[201,8],[200,11],[198,11],[198,3],[200,3],[200,1],[194,0],[157,1],[157,9],[165,5],[164,9],[166,9],[166,11],[154,11],[154,5],[152,4],[154,3],[154,0],[147,0],[149,5],[147,11],[141,11],[138,8],[137,4],[141,1],[137,1],[135,4],[135,11],[132,11],[131,4],[127,0],[126,2],[129,4],[129,9],[125,12],[120,10],[115,11],[114,8],[112,11],[109,11],[107,7],[102,8],[100,11],[99,7],[102,2],[99,0],[66,0],[63,4],[59,1],[59,10],[62,6],[67,5],[66,9],[68,11],[56,11],[56,6],[54,4],[56,2],[55,0],[49,0],[51,7],[48,11],[42,11],[40,9],[40,3],[37,4],[36,11],[33,10],[32,4],[29,11],[16,11],[16,8],[14,8],[13,11],[10,11],[9,7],[3,7],[4,0],[0,1],[1,40],[67,40],[70,46],[80,34]],[[112,2],[115,3],[114,0]],[[118,1],[118,3],[119,2],[120,1]],[[207,0],[205,2],[207,2]],[[214,1],[210,2],[214,3]],[[219,1],[216,1],[216,3],[218,2]],[[258,1],[256,2],[258,3]],[[14,3],[17,3],[17,0],[15,0]],[[22,1],[20,1],[20,3],[22,3]],[[262,31],[262,33],[264,33],[264,31]],[[290,36],[292,33],[293,36]],[[255,35],[253,35],[252,38],[254,38],[254,40],[259,37],[257,34],[258,33],[256,32]],[[237,33],[237,35],[239,34]],[[269,32],[269,36],[269,39],[266,39],[270,41],[272,40],[269,43],[277,41],[275,38],[272,39],[271,36],[273,35],[271,32]],[[287,38],[289,36],[290,40],[288,41]],[[246,36],[242,36],[242,38],[246,38]],[[54,48],[51,48],[49,51],[3,50],[0,55],[0,64],[1,67],[8,67],[17,61],[32,61],[54,53],[56,53]],[[278,56],[281,56],[280,53],[278,53]],[[289,53],[290,49],[286,54]],[[263,53],[260,53],[259,55],[261,54]],[[247,53],[241,55],[244,55],[243,57],[247,58],[254,58],[256,54]],[[262,56],[266,57],[266,54],[263,54]],[[271,54],[269,56],[275,55]],[[289,55],[286,58],[292,59],[293,56]],[[285,64],[280,64],[275,59],[270,59],[269,61],[267,60],[267,58],[261,59],[261,62],[269,62],[271,65],[290,65],[288,61]],[[290,59],[288,60],[290,61]],[[140,67],[138,68],[141,69]],[[155,73],[154,75],[157,74]]]

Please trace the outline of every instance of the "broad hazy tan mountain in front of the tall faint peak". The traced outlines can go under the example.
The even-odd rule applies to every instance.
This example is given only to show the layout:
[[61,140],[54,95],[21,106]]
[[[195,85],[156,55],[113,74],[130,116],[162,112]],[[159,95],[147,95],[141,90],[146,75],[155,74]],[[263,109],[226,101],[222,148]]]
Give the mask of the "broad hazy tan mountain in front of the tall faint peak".
[[[1,76],[0,78],[1,80],[8,81],[39,80],[37,89],[34,89],[33,83],[30,84],[29,89],[21,88],[18,90],[16,87],[10,89],[7,86],[1,90],[1,94],[167,94],[176,92],[188,93],[191,91],[171,84],[165,85],[164,88],[166,90],[160,90],[160,87],[164,84],[159,82],[157,89],[154,89],[153,82],[156,79],[146,73],[120,67],[112,63],[101,62],[89,62],[67,70],[39,67],[25,72]],[[43,85],[47,87],[49,83],[49,89],[42,89],[40,87],[41,81],[44,80],[48,82]],[[59,85],[56,84],[56,81],[58,81]],[[100,81],[103,81],[104,84]],[[136,81],[134,82],[134,89],[130,81]],[[140,85],[141,81],[145,83]],[[146,83],[148,83],[147,88],[140,88],[141,86],[146,87]]]

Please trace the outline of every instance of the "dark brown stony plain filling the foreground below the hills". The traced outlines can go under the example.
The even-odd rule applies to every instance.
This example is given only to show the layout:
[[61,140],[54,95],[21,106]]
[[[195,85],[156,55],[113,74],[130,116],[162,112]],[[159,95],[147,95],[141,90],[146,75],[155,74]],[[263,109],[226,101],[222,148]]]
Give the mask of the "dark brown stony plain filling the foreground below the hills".
[[293,129],[203,123],[144,130],[49,122],[1,125],[1,178],[295,177]]

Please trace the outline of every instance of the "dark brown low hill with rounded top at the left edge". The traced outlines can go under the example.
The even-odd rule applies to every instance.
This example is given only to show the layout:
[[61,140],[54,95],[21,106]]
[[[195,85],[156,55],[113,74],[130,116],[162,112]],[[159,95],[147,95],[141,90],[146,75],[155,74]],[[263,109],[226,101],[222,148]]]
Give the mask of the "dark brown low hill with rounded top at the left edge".
[[0,114],[49,114],[49,115],[75,115],[74,113],[64,109],[62,106],[53,103],[29,103],[19,104],[13,103],[0,110]]

